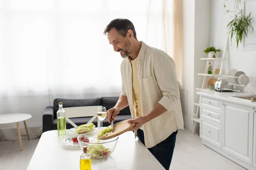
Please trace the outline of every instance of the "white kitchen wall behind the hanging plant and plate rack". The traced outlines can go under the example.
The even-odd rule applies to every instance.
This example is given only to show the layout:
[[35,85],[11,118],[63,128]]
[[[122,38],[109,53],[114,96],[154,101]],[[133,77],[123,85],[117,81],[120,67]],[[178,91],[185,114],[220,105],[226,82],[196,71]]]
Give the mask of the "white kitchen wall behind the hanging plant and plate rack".
[[[254,30],[256,30],[256,11],[252,10],[251,4],[247,2],[247,11],[250,10],[252,12],[252,24],[254,26]],[[256,0],[253,3],[256,6]],[[233,10],[233,1],[228,0],[229,7]],[[227,24],[232,20],[232,16],[230,14],[224,14],[223,11],[224,1],[223,0],[211,0],[210,2],[210,37],[213,39],[213,45],[216,48],[224,49],[225,42],[227,39]],[[248,11],[249,12],[249,11]],[[254,35],[256,33],[254,32]],[[256,38],[256,37],[255,37]],[[244,71],[248,76],[254,77],[253,81],[250,82],[248,87],[253,90],[253,93],[256,94],[256,51],[243,51],[243,45],[239,44],[238,49],[236,48],[235,39],[232,40],[232,46],[229,42],[229,53],[228,53],[228,61],[227,68],[225,69],[225,73],[229,69],[235,68],[239,71]]]

